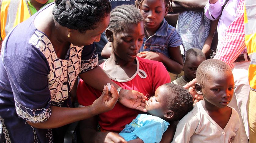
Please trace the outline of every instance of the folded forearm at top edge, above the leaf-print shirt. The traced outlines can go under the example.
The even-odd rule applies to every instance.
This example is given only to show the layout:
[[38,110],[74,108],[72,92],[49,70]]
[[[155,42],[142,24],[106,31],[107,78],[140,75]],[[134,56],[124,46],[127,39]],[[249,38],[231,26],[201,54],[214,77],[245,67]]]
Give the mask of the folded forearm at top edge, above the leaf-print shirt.
[[173,3],[181,5],[183,8],[192,11],[204,11],[204,6],[208,0],[173,0]]

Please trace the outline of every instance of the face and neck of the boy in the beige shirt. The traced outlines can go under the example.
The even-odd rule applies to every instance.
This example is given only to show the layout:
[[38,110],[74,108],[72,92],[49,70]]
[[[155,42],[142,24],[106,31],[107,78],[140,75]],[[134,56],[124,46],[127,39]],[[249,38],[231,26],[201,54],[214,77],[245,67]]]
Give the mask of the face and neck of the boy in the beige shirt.
[[232,114],[232,109],[227,107],[233,97],[234,79],[231,71],[216,72],[210,71],[209,81],[205,81],[204,87],[195,84],[198,94],[204,99],[202,105],[209,116],[224,129]]

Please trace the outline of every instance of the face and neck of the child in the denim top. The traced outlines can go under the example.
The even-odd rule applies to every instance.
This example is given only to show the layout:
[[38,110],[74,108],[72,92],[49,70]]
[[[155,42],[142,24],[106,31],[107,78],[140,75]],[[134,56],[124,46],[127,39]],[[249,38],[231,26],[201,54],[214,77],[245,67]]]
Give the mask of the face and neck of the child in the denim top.
[[168,12],[163,0],[144,0],[140,13],[145,20],[145,34],[147,38],[153,35],[160,27],[162,20]]

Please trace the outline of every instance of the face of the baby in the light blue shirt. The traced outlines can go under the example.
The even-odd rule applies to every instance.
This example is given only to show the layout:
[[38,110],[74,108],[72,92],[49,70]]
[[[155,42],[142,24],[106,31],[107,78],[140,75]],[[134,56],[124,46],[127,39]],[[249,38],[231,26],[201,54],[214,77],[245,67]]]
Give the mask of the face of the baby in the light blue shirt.
[[165,119],[164,114],[169,110],[167,109],[167,96],[169,96],[164,85],[158,87],[155,91],[155,96],[150,97],[146,102],[146,109],[149,114]]

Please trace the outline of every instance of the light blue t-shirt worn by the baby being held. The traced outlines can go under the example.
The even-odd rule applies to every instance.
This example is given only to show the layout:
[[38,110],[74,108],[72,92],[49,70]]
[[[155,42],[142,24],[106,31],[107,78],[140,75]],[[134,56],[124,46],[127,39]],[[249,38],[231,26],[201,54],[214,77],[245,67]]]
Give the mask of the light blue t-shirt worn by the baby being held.
[[140,138],[144,143],[157,143],[162,139],[169,123],[160,117],[138,114],[130,124],[119,133],[126,141]]

